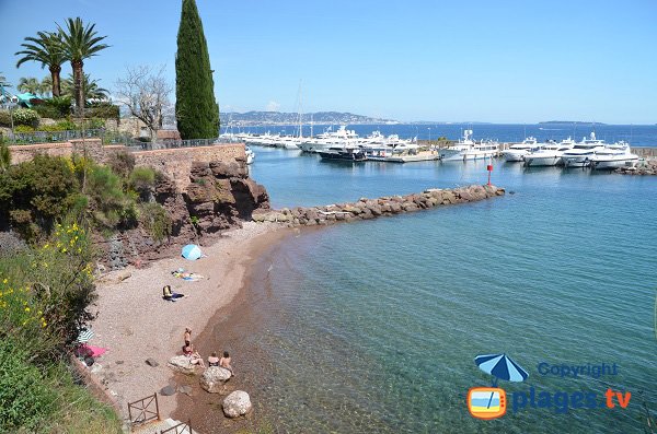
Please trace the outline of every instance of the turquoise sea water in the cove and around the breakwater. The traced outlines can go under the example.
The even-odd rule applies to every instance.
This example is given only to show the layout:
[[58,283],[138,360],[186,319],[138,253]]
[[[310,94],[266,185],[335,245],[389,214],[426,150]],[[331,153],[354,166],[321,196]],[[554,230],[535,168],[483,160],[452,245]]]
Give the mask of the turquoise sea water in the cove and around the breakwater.
[[[277,207],[486,180],[485,163],[327,164],[255,148]],[[643,432],[657,410],[657,178],[495,163],[505,197],[301,232],[276,248],[249,344],[272,361],[253,390],[280,432]],[[507,353],[514,392],[631,391],[626,409],[527,408],[473,419],[473,362]],[[550,364],[618,375],[540,375]],[[529,407],[529,406],[528,406]],[[643,418],[643,419],[642,419]]]

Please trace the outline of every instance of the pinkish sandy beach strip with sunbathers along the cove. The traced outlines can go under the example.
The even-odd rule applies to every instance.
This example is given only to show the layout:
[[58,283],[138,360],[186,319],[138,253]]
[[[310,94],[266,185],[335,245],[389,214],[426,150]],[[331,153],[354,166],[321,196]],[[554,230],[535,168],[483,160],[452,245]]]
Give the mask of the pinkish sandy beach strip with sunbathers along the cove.
[[[181,353],[185,327],[193,329],[192,341],[204,330],[212,316],[240,292],[249,270],[260,253],[284,238],[291,231],[268,224],[245,223],[203,250],[207,257],[188,261],[173,257],[153,261],[145,269],[115,271],[99,281],[99,300],[92,310],[94,338],[90,344],[107,352],[93,366],[96,377],[115,397],[124,413],[131,402],[155,391],[173,380],[168,360]],[[203,274],[204,280],[188,282],[172,277],[171,271]],[[131,275],[118,281],[119,275]],[[175,302],[162,300],[162,286],[170,284],[185,296]],[[198,348],[204,359],[211,349]],[[146,363],[153,359],[159,366]],[[169,418],[176,407],[176,396],[158,395],[160,414]]]

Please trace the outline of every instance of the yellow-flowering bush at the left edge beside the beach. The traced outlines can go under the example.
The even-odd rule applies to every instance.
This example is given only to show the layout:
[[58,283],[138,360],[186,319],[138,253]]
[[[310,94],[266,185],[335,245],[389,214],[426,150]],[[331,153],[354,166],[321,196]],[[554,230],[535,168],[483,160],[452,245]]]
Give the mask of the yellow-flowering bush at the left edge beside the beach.
[[72,343],[92,317],[92,260],[88,233],[77,222],[58,223],[43,245],[0,258],[0,338],[38,331],[44,352]]

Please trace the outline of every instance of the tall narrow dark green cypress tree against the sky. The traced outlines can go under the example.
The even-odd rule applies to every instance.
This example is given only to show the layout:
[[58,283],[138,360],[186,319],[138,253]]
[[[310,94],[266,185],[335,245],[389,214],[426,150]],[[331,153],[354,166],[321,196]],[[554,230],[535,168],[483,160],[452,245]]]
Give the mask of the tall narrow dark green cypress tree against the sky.
[[175,118],[184,140],[219,134],[210,56],[195,0],[183,0],[175,54]]

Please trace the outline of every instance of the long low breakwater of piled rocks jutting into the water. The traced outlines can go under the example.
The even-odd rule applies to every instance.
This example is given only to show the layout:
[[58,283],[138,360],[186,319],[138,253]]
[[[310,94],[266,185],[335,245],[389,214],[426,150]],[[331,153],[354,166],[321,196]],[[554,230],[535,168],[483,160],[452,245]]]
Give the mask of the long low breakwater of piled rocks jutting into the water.
[[454,189],[428,189],[420,193],[387,196],[378,199],[361,198],[357,202],[310,208],[258,209],[252,213],[255,222],[278,222],[287,226],[314,226],[336,222],[376,219],[428,208],[474,202],[503,196],[504,188],[495,186],[460,187]]

